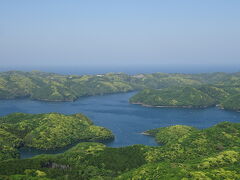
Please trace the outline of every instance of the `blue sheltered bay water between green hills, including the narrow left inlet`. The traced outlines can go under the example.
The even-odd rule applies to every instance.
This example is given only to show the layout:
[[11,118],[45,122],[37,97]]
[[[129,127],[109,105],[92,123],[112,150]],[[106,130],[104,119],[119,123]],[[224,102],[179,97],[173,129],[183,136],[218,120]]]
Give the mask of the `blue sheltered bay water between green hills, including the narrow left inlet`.
[[[240,122],[240,113],[216,107],[206,109],[149,108],[128,103],[134,94],[121,93],[80,98],[75,102],[40,102],[28,99],[1,100],[0,115],[13,112],[64,114],[83,113],[96,125],[112,130],[115,140],[106,143],[111,147],[132,144],[157,145],[154,138],[140,134],[152,128],[184,124],[207,128],[222,121]],[[59,153],[69,147],[55,151],[22,149],[21,157],[27,158],[41,153]]]

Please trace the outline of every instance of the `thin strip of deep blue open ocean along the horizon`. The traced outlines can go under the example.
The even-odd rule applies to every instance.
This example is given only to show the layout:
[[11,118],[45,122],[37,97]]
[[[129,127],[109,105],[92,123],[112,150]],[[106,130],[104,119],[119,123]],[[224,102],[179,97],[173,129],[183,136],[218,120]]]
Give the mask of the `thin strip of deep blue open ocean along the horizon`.
[[104,74],[109,72],[123,72],[126,74],[139,74],[139,73],[155,73],[155,72],[163,72],[163,73],[211,73],[211,72],[227,72],[234,73],[240,72],[240,65],[225,65],[225,66],[129,66],[129,67],[96,67],[96,66],[83,66],[83,67],[0,67],[0,71],[10,71],[10,70],[19,70],[19,71],[44,71],[44,72],[53,72],[59,74],[76,74],[76,75],[84,75],[84,74]]

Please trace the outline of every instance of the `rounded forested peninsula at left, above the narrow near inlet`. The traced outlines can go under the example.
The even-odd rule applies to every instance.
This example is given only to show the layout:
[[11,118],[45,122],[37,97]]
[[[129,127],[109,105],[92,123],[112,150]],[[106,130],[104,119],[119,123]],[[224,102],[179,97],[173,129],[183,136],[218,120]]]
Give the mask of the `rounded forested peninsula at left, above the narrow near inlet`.
[[20,147],[48,150],[113,138],[110,130],[93,125],[82,114],[14,113],[0,118],[0,160],[19,158]]

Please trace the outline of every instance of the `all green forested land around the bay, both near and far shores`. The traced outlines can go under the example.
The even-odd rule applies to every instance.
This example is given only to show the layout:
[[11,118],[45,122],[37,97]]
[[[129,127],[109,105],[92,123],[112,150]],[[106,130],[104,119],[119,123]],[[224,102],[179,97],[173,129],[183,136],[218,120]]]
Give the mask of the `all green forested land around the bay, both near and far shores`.
[[[240,110],[240,73],[0,73],[0,99],[73,101],[133,90],[142,90],[130,99],[133,103]],[[145,134],[160,146],[111,148],[84,142],[62,154],[19,159],[23,146],[55,149],[81,140],[112,139],[113,134],[82,114],[10,114],[0,118],[0,179],[240,179],[239,123],[223,122],[204,130],[176,125]]]

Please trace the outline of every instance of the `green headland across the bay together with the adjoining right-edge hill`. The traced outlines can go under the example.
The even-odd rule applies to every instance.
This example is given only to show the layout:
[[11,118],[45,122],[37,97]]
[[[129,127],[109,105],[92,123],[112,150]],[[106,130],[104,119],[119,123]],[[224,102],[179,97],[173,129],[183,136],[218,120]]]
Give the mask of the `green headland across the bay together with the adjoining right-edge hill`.
[[228,110],[240,110],[238,87],[169,87],[144,89],[129,99],[130,103],[153,107],[204,108],[219,106]]

